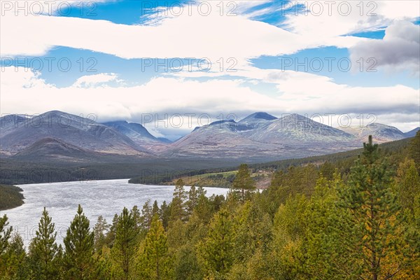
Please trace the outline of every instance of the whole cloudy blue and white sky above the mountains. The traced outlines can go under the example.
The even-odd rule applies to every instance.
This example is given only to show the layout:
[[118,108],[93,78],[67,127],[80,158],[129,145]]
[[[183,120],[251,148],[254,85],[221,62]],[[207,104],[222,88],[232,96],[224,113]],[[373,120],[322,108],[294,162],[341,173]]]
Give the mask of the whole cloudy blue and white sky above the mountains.
[[419,1],[5,1],[0,111],[177,139],[257,111],[420,123]]

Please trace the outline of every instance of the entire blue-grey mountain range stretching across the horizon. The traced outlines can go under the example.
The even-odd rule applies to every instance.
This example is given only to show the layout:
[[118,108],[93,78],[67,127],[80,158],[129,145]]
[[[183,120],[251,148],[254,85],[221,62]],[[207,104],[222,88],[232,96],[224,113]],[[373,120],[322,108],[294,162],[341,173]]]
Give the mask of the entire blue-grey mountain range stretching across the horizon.
[[281,160],[360,148],[368,135],[383,143],[413,137],[419,130],[403,133],[379,123],[337,129],[298,114],[276,118],[263,112],[238,122],[219,120],[196,127],[173,143],[154,137],[138,123],[97,123],[61,111],[34,118],[3,116],[0,125],[1,158],[65,162],[106,162],[116,157]]

